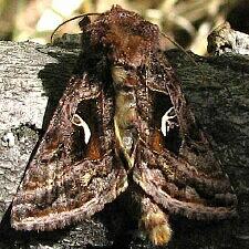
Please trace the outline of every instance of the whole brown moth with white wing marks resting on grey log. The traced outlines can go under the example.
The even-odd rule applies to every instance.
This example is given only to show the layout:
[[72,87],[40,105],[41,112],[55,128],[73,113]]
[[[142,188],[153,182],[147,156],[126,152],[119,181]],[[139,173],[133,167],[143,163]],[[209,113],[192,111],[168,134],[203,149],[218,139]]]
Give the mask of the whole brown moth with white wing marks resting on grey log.
[[186,104],[158,27],[118,6],[80,27],[79,73],[13,199],[12,227],[63,228],[124,191],[154,245],[170,240],[172,215],[236,216],[236,195]]

